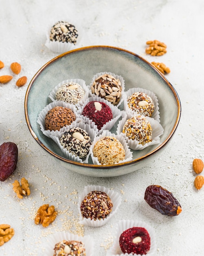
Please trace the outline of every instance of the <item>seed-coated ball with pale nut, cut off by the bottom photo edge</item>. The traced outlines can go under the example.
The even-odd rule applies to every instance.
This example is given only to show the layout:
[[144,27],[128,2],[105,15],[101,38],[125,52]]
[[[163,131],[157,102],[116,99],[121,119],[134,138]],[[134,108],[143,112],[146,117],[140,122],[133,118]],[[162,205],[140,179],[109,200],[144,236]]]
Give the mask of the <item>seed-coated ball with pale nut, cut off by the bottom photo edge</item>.
[[84,244],[81,241],[63,240],[55,245],[53,256],[68,255],[86,256]]

